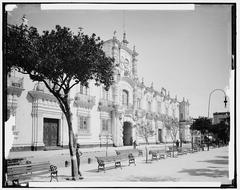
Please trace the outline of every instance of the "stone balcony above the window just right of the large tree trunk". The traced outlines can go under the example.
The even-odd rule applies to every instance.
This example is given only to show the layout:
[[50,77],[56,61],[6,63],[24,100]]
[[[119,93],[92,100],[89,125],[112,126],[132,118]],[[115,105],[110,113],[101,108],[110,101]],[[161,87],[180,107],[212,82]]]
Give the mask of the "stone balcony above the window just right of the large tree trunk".
[[74,98],[74,104],[81,108],[92,109],[95,103],[95,96],[77,93]]

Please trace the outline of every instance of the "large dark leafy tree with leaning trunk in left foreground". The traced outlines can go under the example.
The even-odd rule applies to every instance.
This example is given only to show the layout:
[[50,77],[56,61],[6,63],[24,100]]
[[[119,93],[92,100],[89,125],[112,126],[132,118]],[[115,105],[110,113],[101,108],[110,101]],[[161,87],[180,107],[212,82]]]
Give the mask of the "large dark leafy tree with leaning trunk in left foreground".
[[77,177],[77,163],[70,90],[77,84],[87,87],[90,80],[109,89],[114,80],[114,60],[106,57],[102,45],[99,37],[85,35],[81,29],[75,35],[69,28],[57,25],[40,35],[36,28],[24,24],[7,27],[8,71],[13,68],[33,81],[43,82],[66,117],[73,180]]

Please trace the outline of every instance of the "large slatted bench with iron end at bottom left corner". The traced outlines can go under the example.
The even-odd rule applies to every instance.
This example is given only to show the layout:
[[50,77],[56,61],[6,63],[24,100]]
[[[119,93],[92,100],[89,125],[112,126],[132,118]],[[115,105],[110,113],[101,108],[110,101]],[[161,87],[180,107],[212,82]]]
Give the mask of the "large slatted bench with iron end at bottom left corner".
[[7,186],[21,186],[22,182],[26,182],[33,175],[39,175],[43,172],[50,173],[50,182],[52,179],[58,181],[58,171],[56,166],[50,165],[49,162],[38,162],[7,166],[6,184]]

